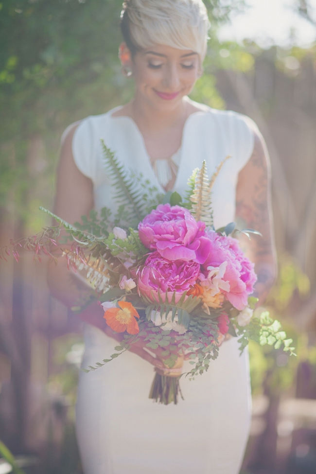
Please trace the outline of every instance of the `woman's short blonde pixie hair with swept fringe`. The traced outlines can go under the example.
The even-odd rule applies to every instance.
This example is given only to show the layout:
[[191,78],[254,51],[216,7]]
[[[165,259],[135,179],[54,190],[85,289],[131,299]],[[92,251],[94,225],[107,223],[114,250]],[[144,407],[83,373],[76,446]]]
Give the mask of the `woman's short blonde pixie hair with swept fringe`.
[[192,50],[203,61],[210,28],[202,0],[126,0],[121,30],[134,55],[155,44]]

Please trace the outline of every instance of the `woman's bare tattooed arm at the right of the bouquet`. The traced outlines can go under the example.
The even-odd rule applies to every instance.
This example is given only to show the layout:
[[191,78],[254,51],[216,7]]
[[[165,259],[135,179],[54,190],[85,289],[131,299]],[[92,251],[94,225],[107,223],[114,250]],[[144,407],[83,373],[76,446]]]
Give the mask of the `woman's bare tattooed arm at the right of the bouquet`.
[[255,263],[258,276],[254,296],[262,304],[275,281],[276,253],[271,212],[270,162],[264,140],[256,131],[252,155],[238,176],[236,219],[239,228],[253,228],[262,233],[262,237],[252,235],[245,242],[246,254]]

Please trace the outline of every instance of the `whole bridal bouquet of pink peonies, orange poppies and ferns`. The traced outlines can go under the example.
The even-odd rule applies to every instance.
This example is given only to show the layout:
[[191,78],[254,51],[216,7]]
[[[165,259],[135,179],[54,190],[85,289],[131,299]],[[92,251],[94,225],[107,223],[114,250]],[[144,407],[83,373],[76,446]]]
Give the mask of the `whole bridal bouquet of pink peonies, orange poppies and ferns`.
[[[211,189],[225,160],[211,179],[205,162],[194,170],[182,198],[159,194],[141,176],[124,171],[105,145],[104,151],[119,205],[116,214],[104,208],[101,216],[93,211],[72,226],[45,210],[59,226],[6,249],[17,258],[24,245],[35,255],[54,258],[51,247],[58,246],[69,268],[90,281],[106,324],[123,337],[109,359],[85,370],[105,365],[141,341],[144,349],[159,350],[164,364],[156,369],[150,398],[168,404],[177,403],[181,394],[184,360],[192,366],[185,375],[193,379],[208,370],[228,337],[238,337],[241,351],[252,338],[293,353],[279,321],[267,312],[253,316],[254,265],[235,236],[258,232],[237,230],[234,223],[213,227]],[[68,245],[60,242],[61,230]]]

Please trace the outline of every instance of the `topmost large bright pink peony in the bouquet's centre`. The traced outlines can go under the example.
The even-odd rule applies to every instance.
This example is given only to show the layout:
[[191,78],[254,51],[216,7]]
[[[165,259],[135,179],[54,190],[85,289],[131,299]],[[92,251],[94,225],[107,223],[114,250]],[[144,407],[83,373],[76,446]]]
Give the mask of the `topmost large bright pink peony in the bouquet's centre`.
[[167,260],[194,260],[203,263],[209,254],[205,224],[196,222],[191,212],[180,206],[159,204],[138,226],[140,240]]

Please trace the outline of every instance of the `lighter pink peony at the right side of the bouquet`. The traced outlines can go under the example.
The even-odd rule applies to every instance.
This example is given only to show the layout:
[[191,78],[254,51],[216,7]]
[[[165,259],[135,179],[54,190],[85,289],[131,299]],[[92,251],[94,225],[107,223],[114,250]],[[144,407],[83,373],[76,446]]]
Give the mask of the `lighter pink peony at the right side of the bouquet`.
[[257,280],[254,265],[245,257],[236,239],[211,230],[207,231],[207,236],[211,240],[211,250],[202,265],[202,271],[207,276],[208,267],[219,267],[221,263],[227,262],[223,280],[228,281],[229,291],[224,291],[224,294],[241,311],[246,307]]

